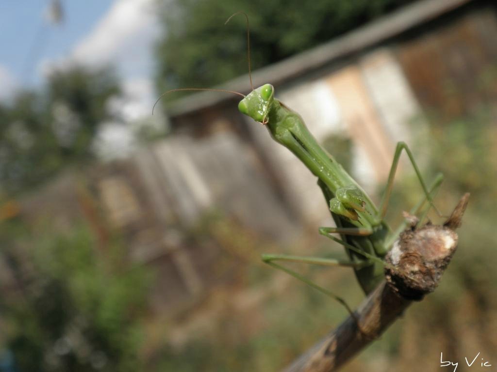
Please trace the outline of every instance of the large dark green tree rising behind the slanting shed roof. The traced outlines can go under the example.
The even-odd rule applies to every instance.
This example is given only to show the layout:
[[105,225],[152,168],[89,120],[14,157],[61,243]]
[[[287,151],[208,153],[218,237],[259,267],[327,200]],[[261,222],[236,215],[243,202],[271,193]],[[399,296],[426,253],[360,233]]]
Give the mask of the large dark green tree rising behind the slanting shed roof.
[[157,47],[161,91],[206,87],[247,72],[246,21],[254,68],[278,62],[412,0],[301,1],[176,0],[166,2],[164,33]]

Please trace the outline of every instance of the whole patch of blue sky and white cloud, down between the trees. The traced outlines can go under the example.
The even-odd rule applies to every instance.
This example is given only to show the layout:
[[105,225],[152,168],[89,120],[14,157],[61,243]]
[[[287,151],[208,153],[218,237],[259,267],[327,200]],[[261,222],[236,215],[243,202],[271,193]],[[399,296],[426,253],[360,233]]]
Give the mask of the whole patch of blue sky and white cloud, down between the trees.
[[124,92],[113,102],[120,122],[102,124],[95,151],[102,158],[124,156],[133,149],[134,126],[151,120],[157,98],[152,80],[161,30],[156,0],[60,0],[60,25],[47,21],[51,1],[0,0],[0,102],[21,88],[39,89],[54,69],[113,65]]

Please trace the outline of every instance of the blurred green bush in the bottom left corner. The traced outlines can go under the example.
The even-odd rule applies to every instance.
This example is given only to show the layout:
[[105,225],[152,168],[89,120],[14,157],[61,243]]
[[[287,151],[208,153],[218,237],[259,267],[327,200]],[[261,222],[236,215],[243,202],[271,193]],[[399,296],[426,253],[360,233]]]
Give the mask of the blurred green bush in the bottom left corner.
[[[2,230],[3,237],[12,234]],[[123,262],[119,245],[97,251],[83,227],[42,237],[21,231],[10,237],[15,244],[2,239],[10,244],[0,252],[19,284],[0,299],[3,347],[18,370],[140,370],[144,270]]]

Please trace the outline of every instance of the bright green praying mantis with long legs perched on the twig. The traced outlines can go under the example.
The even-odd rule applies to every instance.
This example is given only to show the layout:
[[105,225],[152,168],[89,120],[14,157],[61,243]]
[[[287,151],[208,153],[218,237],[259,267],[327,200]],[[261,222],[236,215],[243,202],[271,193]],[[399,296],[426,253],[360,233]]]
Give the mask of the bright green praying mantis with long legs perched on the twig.
[[[331,217],[336,225],[335,227],[320,227],[319,233],[342,245],[345,248],[348,259],[263,254],[262,260],[268,265],[283,270],[327,294],[340,302],[352,314],[352,310],[340,297],[284,266],[282,262],[351,267],[362,290],[366,295],[369,294],[384,279],[385,263],[383,258],[393,247],[400,232],[406,226],[406,223],[401,224],[396,231],[392,231],[384,219],[402,151],[406,152],[424,193],[423,199],[411,210],[411,214],[419,213],[423,205],[428,201],[428,209],[433,207],[438,215],[440,215],[439,211],[433,205],[432,195],[442,183],[443,176],[440,174],[437,175],[432,184],[429,187],[426,186],[410,148],[405,142],[399,142],[394,153],[387,186],[380,206],[376,207],[361,186],[318,143],[308,130],[301,116],[274,97],[275,90],[271,84],[264,84],[258,88],[253,88],[250,73],[248,16],[244,12],[237,12],[229,17],[226,23],[237,14],[244,14],[247,19],[248,75],[251,92],[245,96],[239,92],[224,89],[180,88],[169,90],[166,93],[182,90],[211,90],[242,96],[243,99],[238,105],[239,111],[255,122],[265,126],[271,137],[290,150],[309,169],[312,175],[317,178],[318,185],[323,192],[331,212]],[[161,95],[157,102],[166,93]],[[427,213],[428,209],[424,209],[423,216]],[[334,234],[339,235],[339,238],[334,236]]]

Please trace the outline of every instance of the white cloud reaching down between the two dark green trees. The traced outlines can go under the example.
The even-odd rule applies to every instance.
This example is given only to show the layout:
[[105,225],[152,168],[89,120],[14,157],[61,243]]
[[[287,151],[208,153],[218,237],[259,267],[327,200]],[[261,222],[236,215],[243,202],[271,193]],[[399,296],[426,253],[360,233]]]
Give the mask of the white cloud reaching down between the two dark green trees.
[[[134,134],[137,125],[142,125],[143,119],[151,116],[155,101],[151,79],[152,51],[160,33],[155,6],[156,0],[116,0],[68,56],[40,64],[45,75],[73,64],[117,67],[124,94],[110,105],[127,125],[102,125],[93,149],[103,159],[126,156],[133,151],[137,146]],[[152,119],[147,121],[154,124]]]

